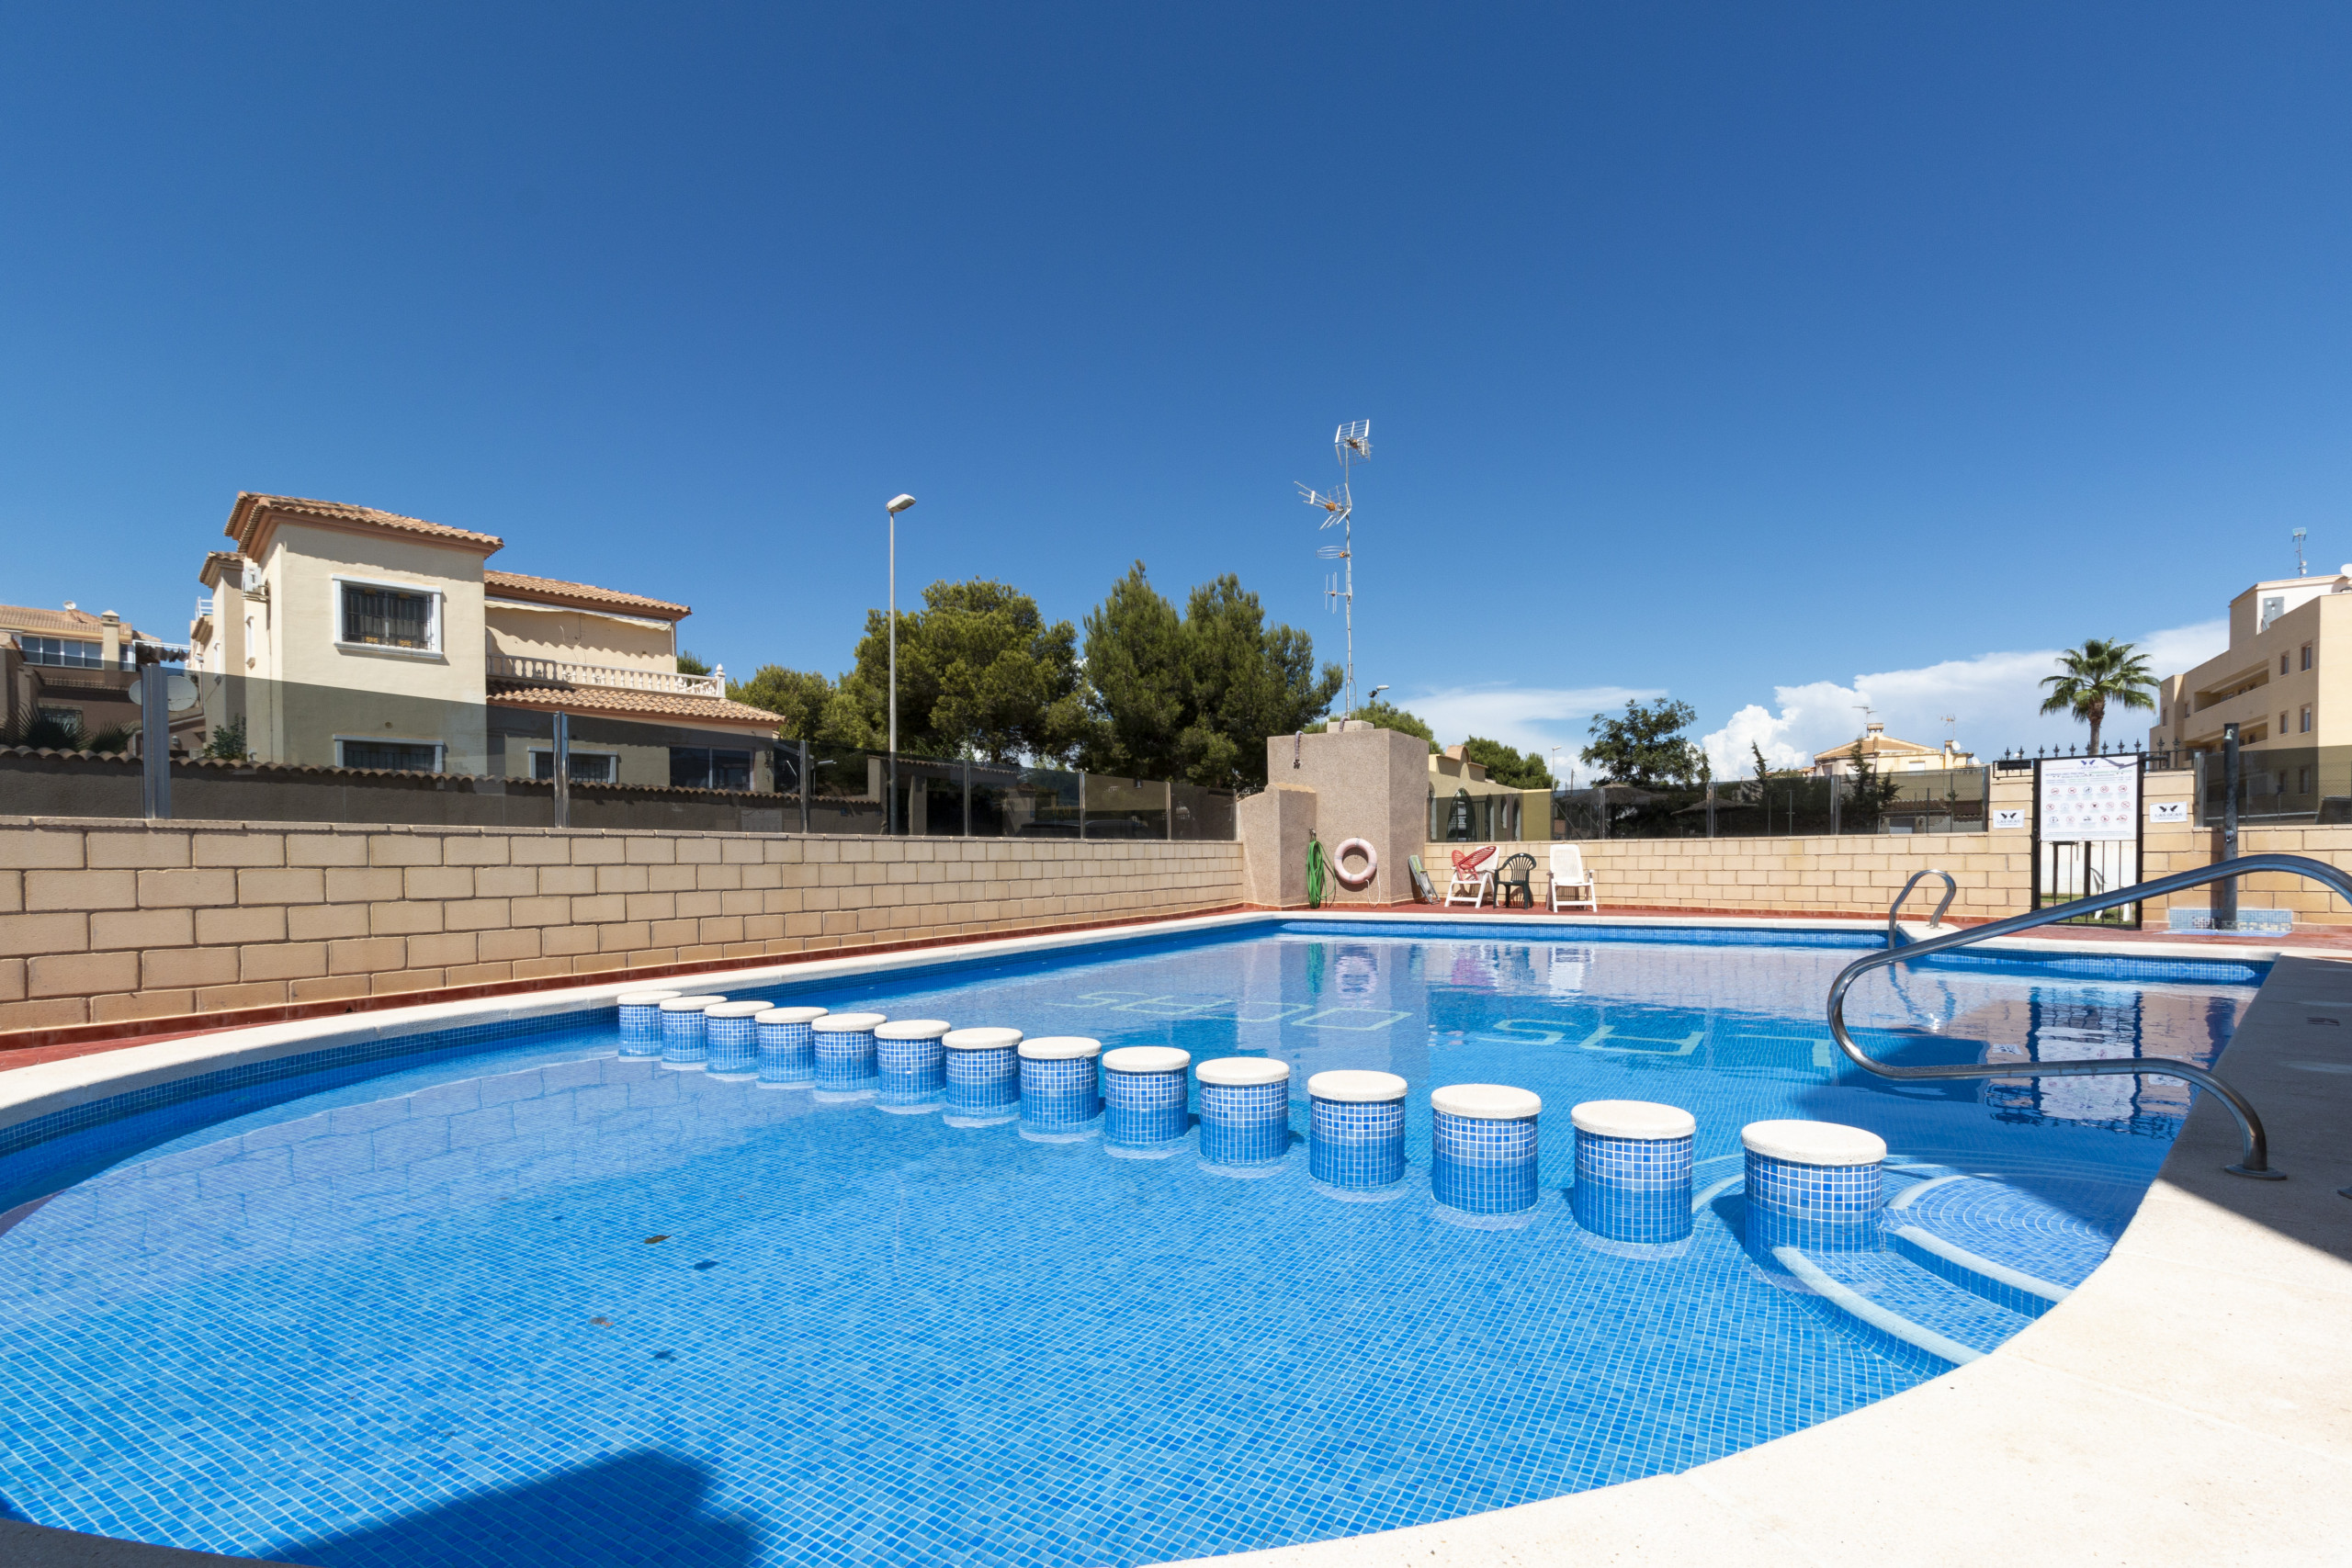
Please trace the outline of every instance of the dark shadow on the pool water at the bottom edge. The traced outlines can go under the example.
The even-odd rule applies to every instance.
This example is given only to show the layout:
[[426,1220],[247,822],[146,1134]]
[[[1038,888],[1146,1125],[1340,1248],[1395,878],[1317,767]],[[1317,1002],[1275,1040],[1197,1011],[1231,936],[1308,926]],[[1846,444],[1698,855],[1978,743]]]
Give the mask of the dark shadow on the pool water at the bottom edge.
[[310,1568],[750,1568],[757,1530],[706,1512],[708,1490],[710,1472],[691,1460],[623,1453],[268,1556]]

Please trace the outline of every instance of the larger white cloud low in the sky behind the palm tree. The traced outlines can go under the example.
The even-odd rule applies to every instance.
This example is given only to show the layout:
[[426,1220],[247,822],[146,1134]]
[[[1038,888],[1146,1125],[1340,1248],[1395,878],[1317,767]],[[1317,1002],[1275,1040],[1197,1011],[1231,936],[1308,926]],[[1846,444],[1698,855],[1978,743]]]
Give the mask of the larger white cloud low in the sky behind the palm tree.
[[[2133,642],[2157,675],[2178,675],[2220,654],[2230,644],[2230,623],[2199,621],[2147,632]],[[2079,743],[2082,724],[2039,712],[2042,677],[2056,670],[2058,649],[2037,649],[1950,658],[1922,670],[1856,675],[1846,684],[1773,686],[1773,708],[1762,703],[1740,708],[1700,745],[1717,778],[1748,773],[1755,766],[1750,745],[1762,745],[1764,757],[1778,766],[1795,766],[1818,750],[1858,736],[1865,722],[1858,712],[1863,705],[1877,710],[1891,736],[1933,745],[1955,733],[1978,757],[1994,757],[2011,745]],[[1945,715],[1955,722],[1945,724]],[[2110,715],[2105,738],[2129,743],[2152,717],[2138,710]]]

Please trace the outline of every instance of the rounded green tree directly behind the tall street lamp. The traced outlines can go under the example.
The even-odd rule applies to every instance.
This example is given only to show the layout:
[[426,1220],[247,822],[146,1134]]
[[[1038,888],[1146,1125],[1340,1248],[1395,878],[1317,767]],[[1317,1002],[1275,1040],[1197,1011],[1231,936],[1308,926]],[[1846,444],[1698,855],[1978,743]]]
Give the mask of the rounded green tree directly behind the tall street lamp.
[[[898,611],[898,750],[988,762],[1061,757],[1084,733],[1077,630],[1009,583],[931,583]],[[858,663],[826,701],[818,738],[889,743],[889,623],[866,614]]]

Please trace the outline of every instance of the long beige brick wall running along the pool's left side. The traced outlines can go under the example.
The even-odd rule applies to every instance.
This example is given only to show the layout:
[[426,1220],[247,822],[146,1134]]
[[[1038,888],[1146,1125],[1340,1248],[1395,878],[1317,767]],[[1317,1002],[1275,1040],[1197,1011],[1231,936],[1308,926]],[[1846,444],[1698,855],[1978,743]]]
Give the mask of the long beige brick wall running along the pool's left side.
[[0,1030],[1232,903],[1240,844],[0,818]]

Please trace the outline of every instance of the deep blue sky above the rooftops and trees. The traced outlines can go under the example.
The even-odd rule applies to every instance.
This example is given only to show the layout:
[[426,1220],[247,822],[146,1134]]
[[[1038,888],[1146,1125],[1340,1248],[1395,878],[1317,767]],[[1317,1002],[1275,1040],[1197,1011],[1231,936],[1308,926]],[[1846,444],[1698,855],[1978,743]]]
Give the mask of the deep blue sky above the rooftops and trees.
[[[1371,418],[1357,665],[1983,750],[2352,559],[2343,7],[0,9],[0,599],[183,632],[240,489],[840,670],[1237,571]],[[1858,679],[1863,677],[1863,679]],[[1844,708],[1844,712],[1839,712]]]

